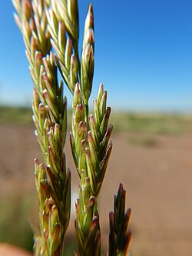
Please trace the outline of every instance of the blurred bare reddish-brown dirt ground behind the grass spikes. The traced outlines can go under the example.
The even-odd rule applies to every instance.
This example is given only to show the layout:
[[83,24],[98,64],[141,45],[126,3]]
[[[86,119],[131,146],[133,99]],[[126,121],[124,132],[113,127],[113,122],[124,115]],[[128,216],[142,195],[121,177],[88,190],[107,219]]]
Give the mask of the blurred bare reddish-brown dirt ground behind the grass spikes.
[[[0,125],[0,194],[35,197],[33,159],[40,153],[34,128]],[[112,136],[114,148],[99,200],[103,244],[108,240],[108,212],[120,182],[132,208],[131,251],[135,256],[191,256],[192,251],[192,137],[156,136],[151,146],[129,143],[133,135]],[[72,172],[73,198],[78,196],[78,177],[69,146],[65,148]],[[35,219],[34,212],[29,218]],[[68,234],[74,226],[74,209]]]

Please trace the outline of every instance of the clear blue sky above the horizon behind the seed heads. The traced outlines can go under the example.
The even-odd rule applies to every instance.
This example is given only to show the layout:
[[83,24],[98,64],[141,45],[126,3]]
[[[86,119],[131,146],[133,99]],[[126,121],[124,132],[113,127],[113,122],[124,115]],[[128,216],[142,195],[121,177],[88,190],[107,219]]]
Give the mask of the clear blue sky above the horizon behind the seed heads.
[[[79,0],[81,35],[89,1]],[[95,72],[114,109],[192,111],[192,1],[93,0]],[[11,1],[0,9],[0,104],[31,101],[25,45]],[[82,38],[80,37],[80,44]],[[71,105],[71,95],[65,90]]]

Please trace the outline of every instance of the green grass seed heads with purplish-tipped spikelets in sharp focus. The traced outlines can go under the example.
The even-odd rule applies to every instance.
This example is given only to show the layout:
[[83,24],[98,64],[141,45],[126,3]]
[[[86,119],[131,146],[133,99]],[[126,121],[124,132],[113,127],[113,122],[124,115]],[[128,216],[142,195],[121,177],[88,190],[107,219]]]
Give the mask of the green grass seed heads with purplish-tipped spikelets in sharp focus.
[[[35,232],[35,255],[62,255],[71,208],[71,172],[66,171],[67,100],[63,83],[73,95],[71,152],[80,178],[76,201],[77,254],[101,255],[98,196],[111,154],[107,91],[100,85],[94,115],[88,100],[94,75],[94,14],[89,5],[81,58],[78,53],[77,0],[13,0],[26,47],[33,91],[35,135],[43,163],[35,159],[40,230]],[[109,255],[127,255],[131,210],[124,213],[125,191],[120,185],[110,214]]]

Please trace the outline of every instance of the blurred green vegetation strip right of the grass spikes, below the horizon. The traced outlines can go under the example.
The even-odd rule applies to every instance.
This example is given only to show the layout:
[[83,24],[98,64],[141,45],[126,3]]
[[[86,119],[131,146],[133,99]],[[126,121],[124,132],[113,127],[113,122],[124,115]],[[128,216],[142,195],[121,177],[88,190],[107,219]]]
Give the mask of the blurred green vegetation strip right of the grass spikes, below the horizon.
[[111,122],[115,131],[147,135],[192,135],[192,115],[114,113]]

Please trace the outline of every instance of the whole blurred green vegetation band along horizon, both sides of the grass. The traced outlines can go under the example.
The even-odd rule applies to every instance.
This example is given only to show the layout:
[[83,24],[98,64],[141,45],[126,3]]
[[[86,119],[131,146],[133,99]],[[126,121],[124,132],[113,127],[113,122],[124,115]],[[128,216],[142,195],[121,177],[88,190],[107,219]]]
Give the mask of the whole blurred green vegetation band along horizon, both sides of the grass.
[[[31,108],[0,107],[0,123],[33,125]],[[71,115],[68,115],[68,125]],[[129,131],[147,135],[192,135],[192,115],[140,114],[115,112],[111,114],[114,131]],[[146,142],[147,143],[147,142]]]

